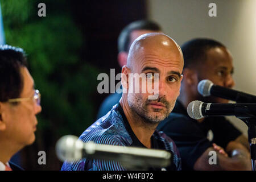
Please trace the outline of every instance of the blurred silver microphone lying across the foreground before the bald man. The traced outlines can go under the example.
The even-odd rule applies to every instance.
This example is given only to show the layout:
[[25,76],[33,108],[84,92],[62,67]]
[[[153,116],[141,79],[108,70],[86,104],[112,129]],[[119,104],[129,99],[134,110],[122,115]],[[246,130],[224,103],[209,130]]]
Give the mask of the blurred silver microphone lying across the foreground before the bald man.
[[167,167],[173,157],[170,152],[164,150],[84,143],[73,135],[65,135],[57,141],[56,154],[63,162],[82,158],[114,160],[133,170]]

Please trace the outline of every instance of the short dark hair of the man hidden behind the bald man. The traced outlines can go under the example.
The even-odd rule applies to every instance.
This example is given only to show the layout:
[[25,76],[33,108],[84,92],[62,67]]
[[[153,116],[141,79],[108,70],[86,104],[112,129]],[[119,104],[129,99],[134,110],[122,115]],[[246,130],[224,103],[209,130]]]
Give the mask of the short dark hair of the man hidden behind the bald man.
[[152,22],[151,20],[138,20],[128,24],[118,37],[118,51],[129,52],[130,34],[134,30],[151,30],[161,31],[159,24]]

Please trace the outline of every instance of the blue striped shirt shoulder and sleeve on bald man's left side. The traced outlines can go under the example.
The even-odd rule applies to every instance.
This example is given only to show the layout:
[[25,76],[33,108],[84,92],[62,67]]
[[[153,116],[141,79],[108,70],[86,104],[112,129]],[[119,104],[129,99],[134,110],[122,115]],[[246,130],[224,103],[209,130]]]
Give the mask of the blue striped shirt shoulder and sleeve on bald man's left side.
[[[97,144],[109,144],[114,146],[130,146],[132,140],[123,125],[123,119],[117,105],[108,114],[93,123],[79,137],[82,142],[92,141]],[[98,170],[124,170],[117,162],[108,162],[96,159],[81,159],[71,163],[64,162],[62,171],[98,171]]]

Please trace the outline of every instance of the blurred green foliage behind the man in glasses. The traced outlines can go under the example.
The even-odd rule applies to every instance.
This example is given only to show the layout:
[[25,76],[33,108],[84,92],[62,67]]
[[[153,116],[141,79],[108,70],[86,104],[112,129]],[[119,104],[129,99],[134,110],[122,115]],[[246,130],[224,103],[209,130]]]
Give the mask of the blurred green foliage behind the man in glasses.
[[[46,17],[38,16],[40,2],[46,3]],[[68,0],[1,1],[6,44],[26,51],[28,68],[42,94],[36,144],[29,149],[35,152],[32,155],[37,155],[36,150],[54,152],[59,137],[80,135],[93,123],[96,114],[93,94],[97,92],[100,71],[80,59],[84,39],[68,3]],[[36,164],[24,166],[38,169]]]

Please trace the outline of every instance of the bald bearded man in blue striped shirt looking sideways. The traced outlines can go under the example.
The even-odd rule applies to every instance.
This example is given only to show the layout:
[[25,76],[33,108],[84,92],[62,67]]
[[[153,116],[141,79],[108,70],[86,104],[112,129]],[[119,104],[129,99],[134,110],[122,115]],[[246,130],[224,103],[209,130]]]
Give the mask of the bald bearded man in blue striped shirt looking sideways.
[[[80,139],[83,142],[92,140],[100,144],[167,150],[173,158],[171,166],[165,169],[180,170],[180,156],[175,143],[164,133],[156,131],[156,127],[174,108],[179,96],[182,69],[183,55],[174,40],[160,33],[139,36],[131,45],[127,65],[122,68],[125,90],[121,100],[108,114],[86,129]],[[142,79],[134,81],[134,75],[142,76]],[[154,83],[154,92],[149,92],[149,89],[142,92],[145,81],[146,85]],[[138,87],[139,92],[135,92]],[[65,162],[62,170],[126,169],[117,162],[82,159]]]

